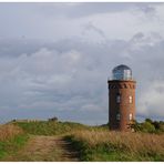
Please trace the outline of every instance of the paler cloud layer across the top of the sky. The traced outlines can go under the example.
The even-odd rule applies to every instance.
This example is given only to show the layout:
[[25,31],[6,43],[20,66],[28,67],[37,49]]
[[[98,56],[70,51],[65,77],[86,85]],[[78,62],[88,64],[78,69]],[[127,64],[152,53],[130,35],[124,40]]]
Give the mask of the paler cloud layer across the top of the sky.
[[94,31],[91,37],[88,30],[90,39],[101,34],[129,40],[139,31],[164,35],[163,8],[163,3],[3,3],[0,39],[59,41],[82,37],[89,24]]

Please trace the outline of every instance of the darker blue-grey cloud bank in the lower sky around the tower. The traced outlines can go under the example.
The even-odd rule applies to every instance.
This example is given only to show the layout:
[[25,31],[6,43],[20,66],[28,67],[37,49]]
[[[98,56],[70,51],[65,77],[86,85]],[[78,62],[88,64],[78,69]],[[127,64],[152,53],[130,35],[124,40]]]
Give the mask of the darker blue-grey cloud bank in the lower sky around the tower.
[[[137,115],[162,115],[161,103],[148,101],[147,95],[151,93],[150,95],[160,98],[157,85],[150,86],[164,73],[161,62],[164,41],[160,40],[152,45],[143,42],[137,49],[132,49],[140,42],[140,38],[146,38],[145,34],[137,35],[133,37],[139,38],[135,42],[130,39],[106,41],[103,44],[89,44],[80,38],[73,38],[14,58],[1,55],[1,112],[2,109],[11,111],[8,112],[8,119],[44,119],[57,114],[61,120],[106,123],[107,76],[111,76],[113,66],[125,63],[132,68],[137,81]],[[162,83],[161,86],[163,88]]]

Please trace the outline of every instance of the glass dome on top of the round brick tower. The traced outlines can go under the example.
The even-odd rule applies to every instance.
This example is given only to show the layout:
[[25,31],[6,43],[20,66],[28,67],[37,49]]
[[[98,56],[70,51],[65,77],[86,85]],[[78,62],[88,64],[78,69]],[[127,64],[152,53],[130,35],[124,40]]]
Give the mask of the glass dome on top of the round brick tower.
[[113,80],[132,80],[132,70],[124,64],[117,65],[112,70]]

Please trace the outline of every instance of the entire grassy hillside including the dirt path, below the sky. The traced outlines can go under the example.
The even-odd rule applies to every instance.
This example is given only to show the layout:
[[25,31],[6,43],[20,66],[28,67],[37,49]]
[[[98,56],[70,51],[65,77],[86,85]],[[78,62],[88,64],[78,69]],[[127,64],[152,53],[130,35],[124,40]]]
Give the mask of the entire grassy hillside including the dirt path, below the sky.
[[0,132],[0,161],[164,161],[164,134],[152,131],[38,121],[12,122]]

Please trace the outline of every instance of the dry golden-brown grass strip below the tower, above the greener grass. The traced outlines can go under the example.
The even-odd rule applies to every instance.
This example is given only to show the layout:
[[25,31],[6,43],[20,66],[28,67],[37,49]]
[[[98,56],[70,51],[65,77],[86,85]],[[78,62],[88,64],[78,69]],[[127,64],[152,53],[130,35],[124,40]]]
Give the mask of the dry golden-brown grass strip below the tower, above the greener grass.
[[109,131],[79,131],[75,132],[76,141],[88,143],[88,146],[95,147],[105,145],[116,150],[123,150],[131,155],[162,155],[164,156],[164,134],[145,134],[145,133],[121,133]]

